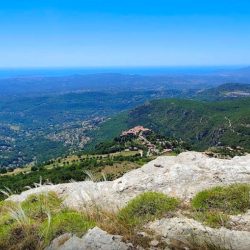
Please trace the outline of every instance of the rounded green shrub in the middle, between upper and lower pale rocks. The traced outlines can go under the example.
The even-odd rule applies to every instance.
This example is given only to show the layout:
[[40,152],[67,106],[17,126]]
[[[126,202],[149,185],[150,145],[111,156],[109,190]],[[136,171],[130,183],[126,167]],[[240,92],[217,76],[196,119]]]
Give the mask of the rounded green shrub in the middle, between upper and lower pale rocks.
[[136,226],[162,217],[176,209],[179,201],[162,193],[146,192],[133,200],[118,213],[118,218],[130,226]]

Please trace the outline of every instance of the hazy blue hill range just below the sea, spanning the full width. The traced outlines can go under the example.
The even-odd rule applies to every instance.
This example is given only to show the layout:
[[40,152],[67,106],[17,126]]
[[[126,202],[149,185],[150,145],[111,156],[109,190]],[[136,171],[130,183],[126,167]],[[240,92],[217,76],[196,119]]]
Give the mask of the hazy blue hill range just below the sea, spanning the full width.
[[[243,73],[244,72],[244,73]],[[0,97],[45,96],[69,92],[166,91],[211,88],[227,82],[250,83],[249,68],[207,74],[129,75],[92,74],[62,77],[0,79]]]

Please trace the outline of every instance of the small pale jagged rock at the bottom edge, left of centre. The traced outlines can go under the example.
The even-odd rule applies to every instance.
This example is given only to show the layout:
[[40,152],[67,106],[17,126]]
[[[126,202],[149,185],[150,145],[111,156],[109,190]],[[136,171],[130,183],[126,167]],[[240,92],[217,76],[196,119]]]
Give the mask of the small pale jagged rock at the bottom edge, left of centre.
[[98,227],[90,229],[82,238],[64,234],[53,240],[46,250],[129,250],[131,244],[122,242],[122,237],[110,235]]

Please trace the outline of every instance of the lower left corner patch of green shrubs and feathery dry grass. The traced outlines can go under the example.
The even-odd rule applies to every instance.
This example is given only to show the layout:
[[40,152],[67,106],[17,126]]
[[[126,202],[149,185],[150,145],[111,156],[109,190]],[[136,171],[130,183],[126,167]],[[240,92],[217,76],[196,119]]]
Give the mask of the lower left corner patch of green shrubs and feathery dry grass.
[[0,203],[0,249],[44,249],[63,234],[81,236],[95,223],[85,215],[62,207],[53,192],[31,195],[21,204]]

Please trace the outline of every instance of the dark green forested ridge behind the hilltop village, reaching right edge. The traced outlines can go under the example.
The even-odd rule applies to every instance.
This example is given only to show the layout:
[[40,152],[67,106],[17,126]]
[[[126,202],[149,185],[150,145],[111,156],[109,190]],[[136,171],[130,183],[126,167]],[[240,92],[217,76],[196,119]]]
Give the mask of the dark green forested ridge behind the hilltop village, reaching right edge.
[[154,100],[102,124],[94,142],[142,125],[164,136],[181,138],[199,151],[211,146],[240,146],[250,151],[249,107],[250,98],[219,102]]

